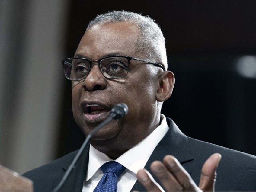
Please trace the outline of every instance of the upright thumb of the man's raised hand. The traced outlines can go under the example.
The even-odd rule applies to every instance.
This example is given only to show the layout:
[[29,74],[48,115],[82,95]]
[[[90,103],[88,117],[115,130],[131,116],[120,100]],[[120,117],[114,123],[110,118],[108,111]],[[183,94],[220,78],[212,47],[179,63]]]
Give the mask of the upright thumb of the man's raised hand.
[[219,165],[221,155],[214,153],[203,164],[201,171],[201,178],[199,182],[199,188],[202,191],[214,191],[214,184],[216,181],[216,169]]

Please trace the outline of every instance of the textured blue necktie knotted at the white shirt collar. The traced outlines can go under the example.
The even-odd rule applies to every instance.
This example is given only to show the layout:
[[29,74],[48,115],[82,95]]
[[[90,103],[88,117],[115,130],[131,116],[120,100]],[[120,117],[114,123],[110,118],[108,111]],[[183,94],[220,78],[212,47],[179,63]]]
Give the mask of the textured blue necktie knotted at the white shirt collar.
[[101,166],[104,173],[94,192],[116,192],[118,176],[125,167],[115,161],[110,161]]

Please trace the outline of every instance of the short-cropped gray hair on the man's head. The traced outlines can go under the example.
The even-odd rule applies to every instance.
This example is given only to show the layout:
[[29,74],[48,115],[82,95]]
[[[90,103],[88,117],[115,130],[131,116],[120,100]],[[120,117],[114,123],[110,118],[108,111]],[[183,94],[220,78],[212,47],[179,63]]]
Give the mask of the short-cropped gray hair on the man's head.
[[111,11],[97,15],[87,26],[86,31],[95,24],[114,23],[128,21],[136,24],[141,31],[141,38],[137,43],[140,52],[145,53],[150,59],[164,64],[167,69],[167,56],[165,38],[161,28],[148,15],[128,11]]

